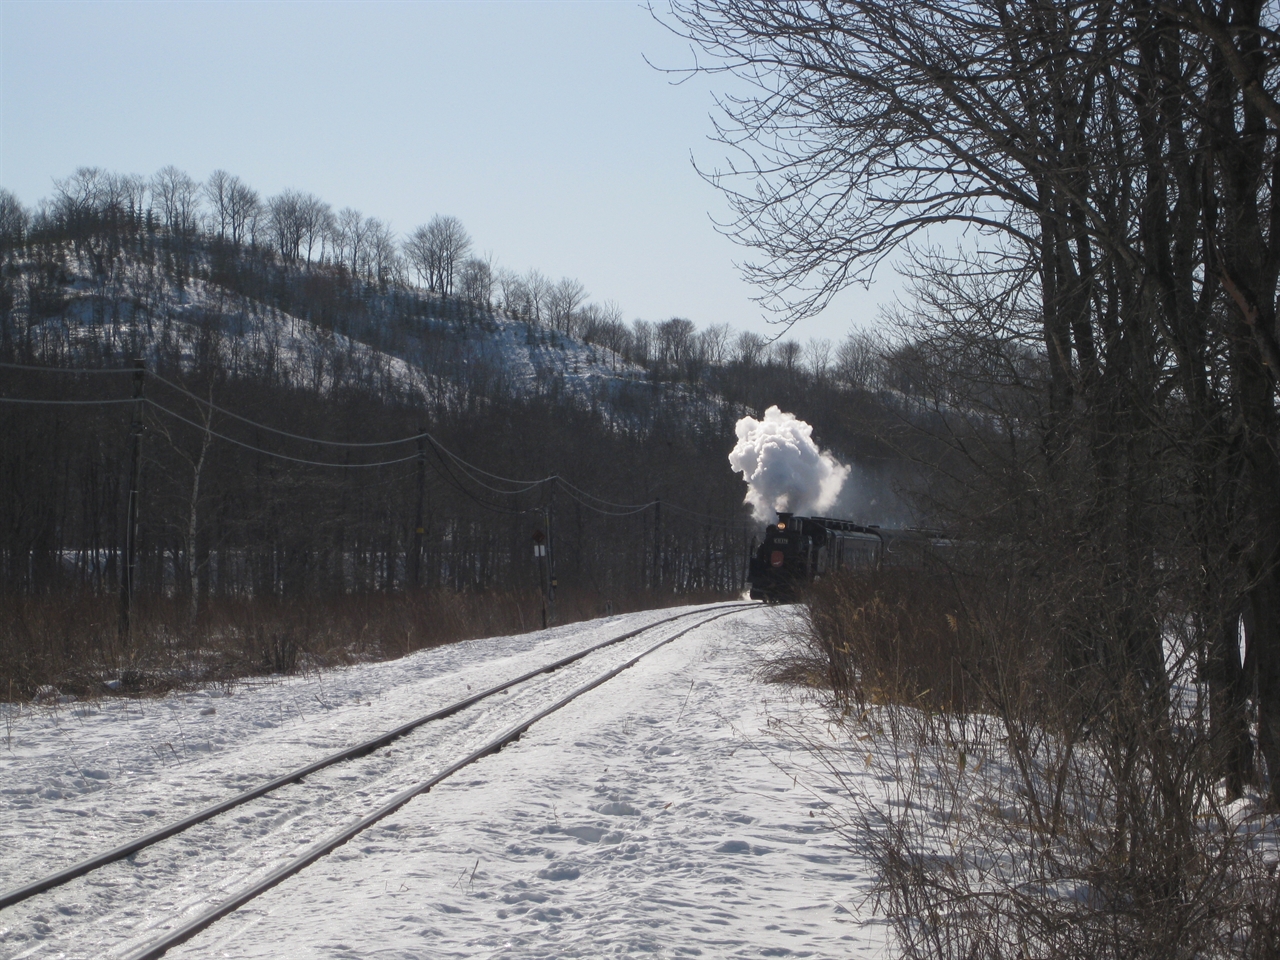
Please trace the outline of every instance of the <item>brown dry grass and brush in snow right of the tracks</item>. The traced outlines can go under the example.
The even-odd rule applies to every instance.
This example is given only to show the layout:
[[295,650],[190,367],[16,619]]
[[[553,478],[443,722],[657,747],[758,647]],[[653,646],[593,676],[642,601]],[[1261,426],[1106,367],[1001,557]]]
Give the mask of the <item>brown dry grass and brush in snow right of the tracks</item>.
[[823,678],[846,751],[873,750],[887,785],[832,767],[900,955],[1280,957],[1280,823],[1260,791],[1228,801],[1188,692],[1068,675],[1070,626],[989,589],[828,580],[790,666]]

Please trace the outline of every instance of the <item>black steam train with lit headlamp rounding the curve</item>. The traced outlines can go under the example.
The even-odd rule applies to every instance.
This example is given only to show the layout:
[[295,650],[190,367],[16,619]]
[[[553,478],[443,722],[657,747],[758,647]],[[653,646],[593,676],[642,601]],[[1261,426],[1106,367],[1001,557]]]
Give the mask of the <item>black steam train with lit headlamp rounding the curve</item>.
[[751,599],[787,603],[805,584],[837,570],[920,567],[948,545],[932,530],[888,530],[831,517],[778,513],[751,557]]

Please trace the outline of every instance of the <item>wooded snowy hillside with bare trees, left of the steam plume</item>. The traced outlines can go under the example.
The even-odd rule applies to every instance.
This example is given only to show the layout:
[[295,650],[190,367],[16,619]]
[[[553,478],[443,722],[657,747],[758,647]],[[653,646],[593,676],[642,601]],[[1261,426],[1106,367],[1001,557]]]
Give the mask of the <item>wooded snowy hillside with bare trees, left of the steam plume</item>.
[[224,172],[0,192],[0,695],[737,595],[726,457],[769,403],[888,489],[876,338],[626,324],[470,251],[453,218],[397,238]]

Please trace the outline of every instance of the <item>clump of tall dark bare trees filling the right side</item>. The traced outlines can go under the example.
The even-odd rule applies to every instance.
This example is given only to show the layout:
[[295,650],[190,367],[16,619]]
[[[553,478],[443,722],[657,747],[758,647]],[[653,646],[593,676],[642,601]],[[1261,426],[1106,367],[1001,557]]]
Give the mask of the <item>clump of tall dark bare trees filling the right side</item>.
[[[1114,764],[1092,794],[1114,804],[1106,822],[1097,805],[1073,814],[1082,835],[1111,837],[1085,845],[1076,876],[1124,864],[1089,918],[1098,943],[1156,956],[1166,937],[1164,954],[1228,955],[1234,932],[1180,936],[1187,916],[1215,911],[1188,899],[1203,858],[1198,831],[1178,824],[1216,806],[1216,783],[1239,796],[1253,780],[1280,803],[1274,5],[694,0],[673,15],[708,69],[753,86],[722,101],[719,125],[749,160],[712,179],[735,205],[730,232],[760,255],[749,273],[765,298],[809,316],[895,251],[934,291],[892,358],[941,424],[931,442],[973,470],[933,506],[1002,545],[998,575],[973,573],[1005,598],[1011,582],[1027,591],[1005,635],[1036,635],[1033,657],[1068,678],[1046,703],[1061,696],[1053,716],[1073,719],[1051,728],[1088,736],[1094,768]],[[969,227],[950,266],[911,242],[940,221]],[[1185,726],[1171,721],[1172,623],[1206,664],[1208,717]],[[1002,682],[995,699],[1018,703]],[[1009,709],[1009,742],[1055,722]],[[1187,742],[1211,764],[1194,777]],[[1062,835],[1061,790],[1039,836]],[[1156,836],[1178,841],[1148,852]],[[951,867],[911,864],[913,923],[977,929],[970,908],[1004,899],[963,883],[933,899]],[[932,922],[928,936],[952,955],[1084,955],[1061,938],[1075,905],[1047,902],[1005,942],[951,940],[959,927]],[[1117,902],[1137,909],[1120,918]],[[1133,940],[1106,940],[1120,936]]]

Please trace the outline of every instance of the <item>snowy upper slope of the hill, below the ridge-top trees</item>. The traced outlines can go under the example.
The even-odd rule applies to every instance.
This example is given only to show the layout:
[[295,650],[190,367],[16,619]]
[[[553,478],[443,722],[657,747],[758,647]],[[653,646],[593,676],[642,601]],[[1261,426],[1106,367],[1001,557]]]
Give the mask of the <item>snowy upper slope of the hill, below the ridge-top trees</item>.
[[[613,351],[512,319],[499,310],[475,319],[416,319],[383,348],[282,310],[228,293],[198,276],[179,288],[155,269],[124,261],[110,280],[69,260],[59,315],[32,328],[36,356],[83,360],[175,356],[195,364],[209,332],[221,335],[233,375],[270,374],[294,387],[329,392],[374,383],[434,402],[456,398],[460,384],[486,394],[554,393],[584,406],[609,403],[620,390],[649,388],[644,367]],[[438,303],[434,294],[369,293],[366,307],[390,314],[396,296]],[[403,320],[387,325],[404,326]],[[684,388],[664,390],[694,402]]]

